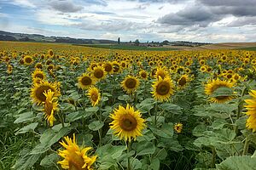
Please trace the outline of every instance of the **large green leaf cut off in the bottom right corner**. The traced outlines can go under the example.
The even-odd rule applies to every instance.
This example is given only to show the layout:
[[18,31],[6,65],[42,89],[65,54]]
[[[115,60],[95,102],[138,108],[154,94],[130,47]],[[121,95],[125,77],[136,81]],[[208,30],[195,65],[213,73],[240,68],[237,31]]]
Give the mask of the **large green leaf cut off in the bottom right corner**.
[[216,165],[219,170],[256,169],[256,158],[251,156],[231,156]]

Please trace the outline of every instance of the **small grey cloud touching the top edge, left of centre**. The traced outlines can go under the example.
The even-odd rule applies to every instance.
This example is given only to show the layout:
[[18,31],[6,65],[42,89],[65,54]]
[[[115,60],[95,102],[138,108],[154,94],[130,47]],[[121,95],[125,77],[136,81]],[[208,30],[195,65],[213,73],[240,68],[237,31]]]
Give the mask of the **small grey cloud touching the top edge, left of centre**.
[[82,6],[76,5],[70,0],[54,0],[49,3],[49,6],[62,13],[75,13],[83,9]]

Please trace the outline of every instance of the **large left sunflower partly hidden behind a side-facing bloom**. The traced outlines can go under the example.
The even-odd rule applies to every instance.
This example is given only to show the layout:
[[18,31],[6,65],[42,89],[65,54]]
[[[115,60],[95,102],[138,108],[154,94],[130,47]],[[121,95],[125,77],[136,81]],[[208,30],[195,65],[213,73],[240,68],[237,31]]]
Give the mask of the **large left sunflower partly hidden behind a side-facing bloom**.
[[52,84],[50,82],[47,81],[41,81],[40,83],[34,83],[34,86],[32,87],[31,90],[31,98],[32,98],[32,102],[40,105],[43,102],[45,102],[45,95],[44,92],[47,92],[48,90],[51,90],[52,92],[54,92],[54,96],[58,97],[61,95],[61,93],[59,92],[58,88],[55,86],[55,84]]

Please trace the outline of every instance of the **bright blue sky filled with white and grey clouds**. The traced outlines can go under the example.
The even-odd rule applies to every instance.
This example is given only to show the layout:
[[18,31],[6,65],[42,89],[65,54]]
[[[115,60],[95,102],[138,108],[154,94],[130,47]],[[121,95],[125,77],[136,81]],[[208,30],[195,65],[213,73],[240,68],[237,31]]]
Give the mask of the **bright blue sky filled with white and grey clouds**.
[[0,30],[140,42],[256,42],[256,0],[0,0]]

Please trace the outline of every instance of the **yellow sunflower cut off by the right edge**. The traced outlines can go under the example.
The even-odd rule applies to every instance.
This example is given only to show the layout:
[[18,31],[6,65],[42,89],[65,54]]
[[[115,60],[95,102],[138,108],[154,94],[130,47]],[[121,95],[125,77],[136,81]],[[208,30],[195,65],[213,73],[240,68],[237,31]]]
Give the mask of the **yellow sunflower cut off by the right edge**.
[[245,107],[247,108],[246,114],[249,116],[247,119],[247,128],[256,131],[256,90],[251,90],[249,93],[252,99],[245,99],[247,103]]

